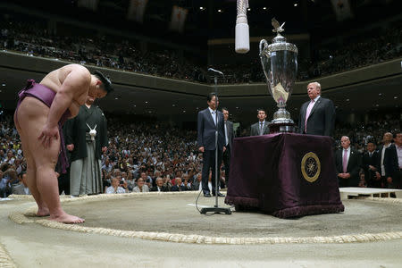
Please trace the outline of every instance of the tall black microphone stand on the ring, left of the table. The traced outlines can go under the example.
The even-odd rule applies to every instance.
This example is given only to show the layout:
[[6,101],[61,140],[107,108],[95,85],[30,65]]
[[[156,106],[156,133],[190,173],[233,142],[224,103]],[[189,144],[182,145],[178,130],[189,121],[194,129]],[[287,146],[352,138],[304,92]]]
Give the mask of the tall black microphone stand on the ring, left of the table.
[[214,88],[215,88],[215,101],[216,101],[216,112],[215,112],[215,205],[214,207],[203,207],[200,211],[200,214],[206,214],[208,212],[213,212],[214,214],[231,214],[230,207],[219,207],[218,205],[218,77],[216,73],[219,73],[224,77],[222,71],[216,71],[212,68],[209,68],[208,71],[214,71]]

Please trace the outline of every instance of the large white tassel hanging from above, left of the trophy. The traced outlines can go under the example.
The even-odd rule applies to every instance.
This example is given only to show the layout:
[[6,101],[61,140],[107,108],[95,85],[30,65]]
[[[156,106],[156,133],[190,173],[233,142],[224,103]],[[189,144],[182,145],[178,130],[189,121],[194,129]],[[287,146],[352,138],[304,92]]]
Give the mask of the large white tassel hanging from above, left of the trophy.
[[247,7],[248,0],[238,0],[235,51],[239,54],[246,54],[250,50],[250,37],[247,24]]

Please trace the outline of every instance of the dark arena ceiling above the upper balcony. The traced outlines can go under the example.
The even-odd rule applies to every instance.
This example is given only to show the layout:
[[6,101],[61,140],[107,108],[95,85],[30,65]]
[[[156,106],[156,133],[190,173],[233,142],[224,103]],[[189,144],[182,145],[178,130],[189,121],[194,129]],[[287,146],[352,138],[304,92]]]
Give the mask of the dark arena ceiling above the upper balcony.
[[[96,11],[79,7],[80,1],[97,1]],[[143,21],[128,21],[131,0],[3,0],[3,5],[19,6],[29,12],[41,12],[96,23],[116,31],[126,30],[136,35],[176,44],[206,47],[207,40],[233,38],[236,23],[236,0],[147,0]],[[136,0],[138,2],[145,0]],[[314,38],[333,37],[361,29],[373,23],[400,15],[398,0],[249,0],[247,20],[250,36],[272,33],[271,19],[286,21],[286,33],[309,33]],[[333,3],[333,4],[332,4]],[[169,30],[172,6],[188,11],[181,33]],[[336,6],[336,7],[334,7]],[[339,17],[339,13],[347,14]]]

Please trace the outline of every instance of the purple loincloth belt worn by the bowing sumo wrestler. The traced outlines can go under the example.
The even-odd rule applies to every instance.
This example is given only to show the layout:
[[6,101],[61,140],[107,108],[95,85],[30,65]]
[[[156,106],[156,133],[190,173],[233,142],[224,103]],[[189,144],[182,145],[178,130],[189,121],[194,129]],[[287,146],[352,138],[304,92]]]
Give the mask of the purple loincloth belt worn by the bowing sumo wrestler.
[[[54,96],[56,93],[50,89],[46,88],[44,85],[37,84],[35,80],[27,80],[27,86],[25,88],[22,88],[21,91],[18,93],[19,100],[17,104],[17,108],[15,109],[15,113],[18,112],[18,108],[21,105],[21,102],[26,96],[32,96],[40,100],[42,103],[44,103],[47,107],[50,108],[50,106],[53,103]],[[61,167],[61,172],[65,173],[66,168],[69,167],[69,162],[67,159],[67,152],[65,150],[65,144],[64,144],[64,137],[63,137],[63,124],[65,121],[69,119],[71,116],[70,111],[67,109],[63,115],[62,118],[59,121],[59,135],[60,135],[60,154],[59,154],[59,163]],[[17,117],[15,117],[17,120]]]

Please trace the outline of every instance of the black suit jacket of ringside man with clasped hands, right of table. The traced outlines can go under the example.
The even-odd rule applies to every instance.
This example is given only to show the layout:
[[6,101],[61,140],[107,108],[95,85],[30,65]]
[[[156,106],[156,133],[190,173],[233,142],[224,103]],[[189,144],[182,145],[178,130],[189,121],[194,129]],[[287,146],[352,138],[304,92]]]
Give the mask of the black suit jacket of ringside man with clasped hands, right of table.
[[[308,128],[308,127],[307,127]],[[339,173],[343,173],[343,148],[339,149],[335,155],[335,164],[337,168],[337,176]],[[359,185],[359,171],[362,165],[362,155],[352,149],[350,151],[347,173],[350,173],[350,178],[339,178],[339,187],[358,187]]]

